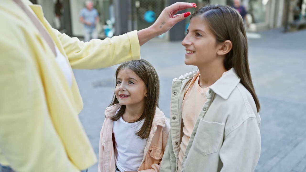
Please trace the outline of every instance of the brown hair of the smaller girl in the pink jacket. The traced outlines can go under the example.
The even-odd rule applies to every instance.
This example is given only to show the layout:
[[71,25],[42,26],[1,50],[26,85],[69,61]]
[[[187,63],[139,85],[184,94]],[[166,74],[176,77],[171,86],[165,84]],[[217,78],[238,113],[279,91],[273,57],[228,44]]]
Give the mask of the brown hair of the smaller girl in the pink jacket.
[[[152,126],[152,122],[155,116],[156,107],[158,107],[159,100],[159,77],[157,75],[154,67],[146,60],[140,59],[136,61],[130,61],[122,63],[116,70],[116,78],[118,77],[118,73],[121,69],[129,69],[133,71],[141,80],[144,81],[144,84],[147,88],[147,97],[144,112],[135,122],[144,119],[144,124],[141,128],[136,132],[136,135],[141,139],[148,138]],[[117,84],[116,84],[117,86]],[[110,106],[117,104],[118,99],[114,94],[112,103]],[[113,116],[111,119],[113,121],[117,121],[125,112],[126,106],[122,105],[118,113]]]

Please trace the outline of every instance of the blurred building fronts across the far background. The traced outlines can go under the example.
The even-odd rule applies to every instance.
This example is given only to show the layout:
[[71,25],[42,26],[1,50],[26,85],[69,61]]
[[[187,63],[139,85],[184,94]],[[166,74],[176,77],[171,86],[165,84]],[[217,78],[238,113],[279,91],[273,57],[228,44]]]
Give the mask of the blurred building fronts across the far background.
[[[54,4],[57,0],[30,1],[42,5],[46,19],[54,26]],[[65,32],[70,36],[83,36],[83,25],[79,21],[79,14],[84,8],[84,0],[61,1],[64,5]],[[232,5],[233,0],[93,0],[93,2],[100,15],[98,26],[100,37],[106,37],[110,31],[114,32],[114,35],[120,35],[150,26],[164,7],[175,2],[193,2],[199,9],[208,3]],[[287,16],[289,21],[293,20],[294,8],[298,2],[300,2],[301,15],[305,15],[302,9],[305,11],[306,0],[241,0],[242,5],[248,10],[250,26],[247,30],[256,32],[283,27]],[[190,12],[193,13],[195,10],[190,9]],[[181,13],[183,12],[186,11]],[[181,40],[187,23],[188,19],[175,25],[166,38]]]

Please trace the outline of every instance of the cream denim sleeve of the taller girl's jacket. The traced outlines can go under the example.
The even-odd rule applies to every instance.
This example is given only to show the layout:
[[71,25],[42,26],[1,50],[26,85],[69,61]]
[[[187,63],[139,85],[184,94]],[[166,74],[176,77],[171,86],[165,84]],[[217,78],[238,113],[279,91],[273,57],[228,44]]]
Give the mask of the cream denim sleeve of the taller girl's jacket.
[[259,160],[260,145],[257,120],[247,118],[225,136],[219,153],[223,163],[221,172],[253,172]]

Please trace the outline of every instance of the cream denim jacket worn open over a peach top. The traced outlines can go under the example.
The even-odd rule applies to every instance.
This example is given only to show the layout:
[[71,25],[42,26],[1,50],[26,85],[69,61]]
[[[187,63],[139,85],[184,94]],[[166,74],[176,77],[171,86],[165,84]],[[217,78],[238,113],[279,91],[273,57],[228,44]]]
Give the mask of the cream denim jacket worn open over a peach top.
[[[197,72],[197,71],[196,71]],[[175,78],[170,106],[171,130],[161,172],[176,172],[182,132],[184,93],[196,72]],[[252,95],[230,69],[207,91],[188,142],[184,172],[251,172],[260,154],[260,117]]]

